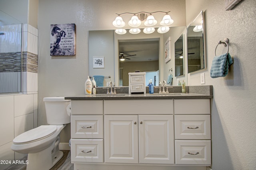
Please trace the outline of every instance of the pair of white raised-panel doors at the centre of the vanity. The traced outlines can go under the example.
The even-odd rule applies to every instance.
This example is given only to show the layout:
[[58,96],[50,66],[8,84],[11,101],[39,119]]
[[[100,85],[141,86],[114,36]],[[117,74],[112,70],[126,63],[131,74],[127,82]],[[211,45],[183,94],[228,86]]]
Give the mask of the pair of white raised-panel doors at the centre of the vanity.
[[173,115],[105,115],[104,130],[105,162],[174,164]]

